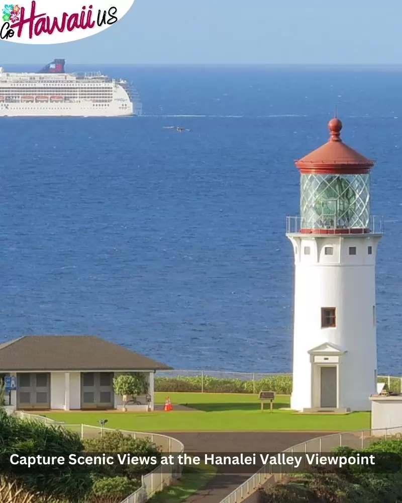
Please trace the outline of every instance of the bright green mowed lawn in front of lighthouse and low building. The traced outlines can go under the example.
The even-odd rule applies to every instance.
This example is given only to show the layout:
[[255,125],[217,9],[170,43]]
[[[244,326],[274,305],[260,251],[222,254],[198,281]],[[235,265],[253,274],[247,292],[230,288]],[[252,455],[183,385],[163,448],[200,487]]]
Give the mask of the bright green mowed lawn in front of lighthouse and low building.
[[[98,420],[108,419],[108,428],[148,432],[185,431],[316,431],[337,432],[370,428],[369,412],[345,415],[298,414],[280,410],[289,406],[287,395],[277,395],[274,410],[269,403],[261,412],[257,395],[238,393],[156,393],[157,403],[170,397],[170,412],[120,411],[52,411],[44,415],[66,424],[99,426]],[[194,411],[175,410],[175,405],[187,405]]]

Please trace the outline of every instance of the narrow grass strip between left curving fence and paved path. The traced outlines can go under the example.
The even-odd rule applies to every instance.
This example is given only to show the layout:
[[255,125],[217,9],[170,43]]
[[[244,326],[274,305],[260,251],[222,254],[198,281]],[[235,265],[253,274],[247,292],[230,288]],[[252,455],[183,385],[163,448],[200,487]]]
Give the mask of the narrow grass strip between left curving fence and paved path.
[[216,467],[211,465],[184,466],[183,474],[176,484],[155,494],[150,503],[179,503],[203,489],[215,477]]

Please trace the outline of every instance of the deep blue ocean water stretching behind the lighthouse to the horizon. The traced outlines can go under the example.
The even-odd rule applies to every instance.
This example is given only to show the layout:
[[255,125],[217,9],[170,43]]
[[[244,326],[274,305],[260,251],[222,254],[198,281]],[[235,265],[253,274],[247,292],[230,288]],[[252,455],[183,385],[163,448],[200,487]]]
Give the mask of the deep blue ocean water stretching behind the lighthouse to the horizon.
[[0,343],[96,334],[178,369],[290,371],[293,160],[337,104],[377,161],[378,371],[402,373],[401,69],[86,69],[134,81],[144,116],[0,120]]

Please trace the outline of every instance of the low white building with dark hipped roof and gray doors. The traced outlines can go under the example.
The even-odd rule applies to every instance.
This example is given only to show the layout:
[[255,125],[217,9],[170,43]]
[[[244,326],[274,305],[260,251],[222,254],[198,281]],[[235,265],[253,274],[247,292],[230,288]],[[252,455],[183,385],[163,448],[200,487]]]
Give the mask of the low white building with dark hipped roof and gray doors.
[[[122,397],[113,390],[119,374],[144,372],[148,394],[128,409],[154,409],[154,373],[170,367],[93,336],[28,336],[0,344],[0,379],[16,376],[12,408],[113,409]],[[6,403],[6,405],[8,405]]]

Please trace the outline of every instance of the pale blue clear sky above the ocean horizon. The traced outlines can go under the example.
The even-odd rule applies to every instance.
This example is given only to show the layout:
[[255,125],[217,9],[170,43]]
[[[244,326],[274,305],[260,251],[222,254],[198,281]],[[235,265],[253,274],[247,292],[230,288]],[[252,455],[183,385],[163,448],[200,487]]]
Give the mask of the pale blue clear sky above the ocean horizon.
[[91,64],[402,64],[401,28],[400,0],[135,0],[122,20],[86,39],[0,41],[0,65],[55,57]]

